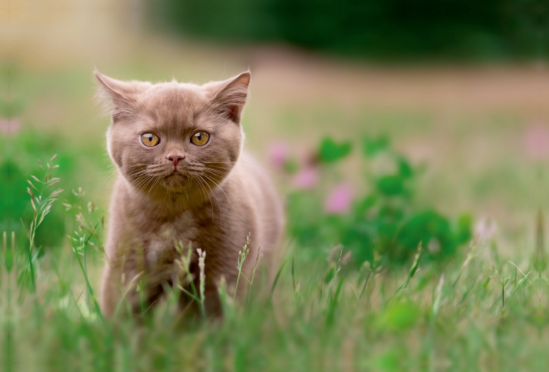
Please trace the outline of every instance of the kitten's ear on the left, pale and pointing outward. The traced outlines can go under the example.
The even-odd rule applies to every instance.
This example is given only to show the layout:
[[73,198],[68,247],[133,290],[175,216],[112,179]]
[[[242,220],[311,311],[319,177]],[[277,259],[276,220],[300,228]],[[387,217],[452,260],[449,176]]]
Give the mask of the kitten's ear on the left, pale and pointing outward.
[[135,99],[140,91],[136,82],[122,82],[97,70],[95,77],[100,82],[97,98],[106,104],[106,111],[113,116],[113,121],[135,115]]

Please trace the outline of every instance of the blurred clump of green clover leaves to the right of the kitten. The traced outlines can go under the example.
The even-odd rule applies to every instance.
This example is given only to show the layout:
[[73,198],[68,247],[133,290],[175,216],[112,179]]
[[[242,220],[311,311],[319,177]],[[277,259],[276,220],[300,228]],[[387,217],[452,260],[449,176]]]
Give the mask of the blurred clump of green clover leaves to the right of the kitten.
[[[318,249],[339,242],[352,251],[353,261],[360,266],[371,261],[377,251],[386,262],[401,264],[408,261],[417,246],[423,243],[427,261],[441,261],[452,257],[457,248],[471,239],[471,217],[452,219],[432,209],[430,205],[414,203],[414,180],[419,174],[401,154],[395,153],[384,137],[364,139],[363,154],[366,165],[377,156],[391,159],[394,171],[390,174],[369,174],[372,187],[367,194],[358,195],[347,213],[327,213],[323,210],[320,189],[294,191],[288,196],[288,229],[302,246]],[[326,165],[319,165],[321,174],[334,174],[336,160],[347,156],[342,145],[324,139],[320,144],[331,156]],[[350,143],[346,148],[350,148]],[[323,150],[324,149],[324,150]],[[322,158],[321,158],[322,159]]]

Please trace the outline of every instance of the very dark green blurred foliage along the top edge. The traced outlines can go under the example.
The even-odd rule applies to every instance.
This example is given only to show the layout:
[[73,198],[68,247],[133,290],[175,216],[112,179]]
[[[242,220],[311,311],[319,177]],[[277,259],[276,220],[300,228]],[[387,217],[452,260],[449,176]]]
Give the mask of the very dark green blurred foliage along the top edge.
[[224,41],[285,41],[353,56],[531,57],[546,53],[540,45],[549,43],[539,0],[161,0],[149,5],[156,23],[176,32]]

